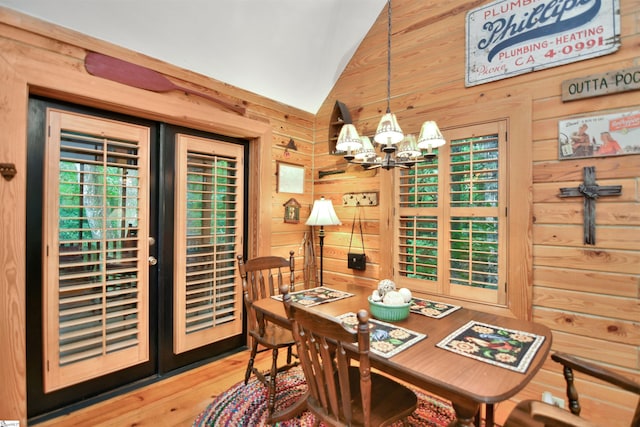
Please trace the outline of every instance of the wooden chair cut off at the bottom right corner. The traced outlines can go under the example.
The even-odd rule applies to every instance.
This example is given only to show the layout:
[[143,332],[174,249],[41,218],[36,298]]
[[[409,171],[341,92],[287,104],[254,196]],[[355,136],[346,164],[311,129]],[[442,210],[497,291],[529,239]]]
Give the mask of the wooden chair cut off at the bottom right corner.
[[[537,400],[520,402],[509,414],[504,427],[594,427],[596,424],[587,418],[581,418],[578,391],[573,382],[573,372],[581,372],[598,378],[623,390],[640,396],[640,384],[622,375],[598,366],[575,356],[565,353],[555,353],[551,359],[562,364],[563,374],[567,383],[567,399],[569,411],[557,406]],[[602,426],[606,427],[606,426]],[[640,400],[638,401],[631,421],[631,427],[640,427]]]

